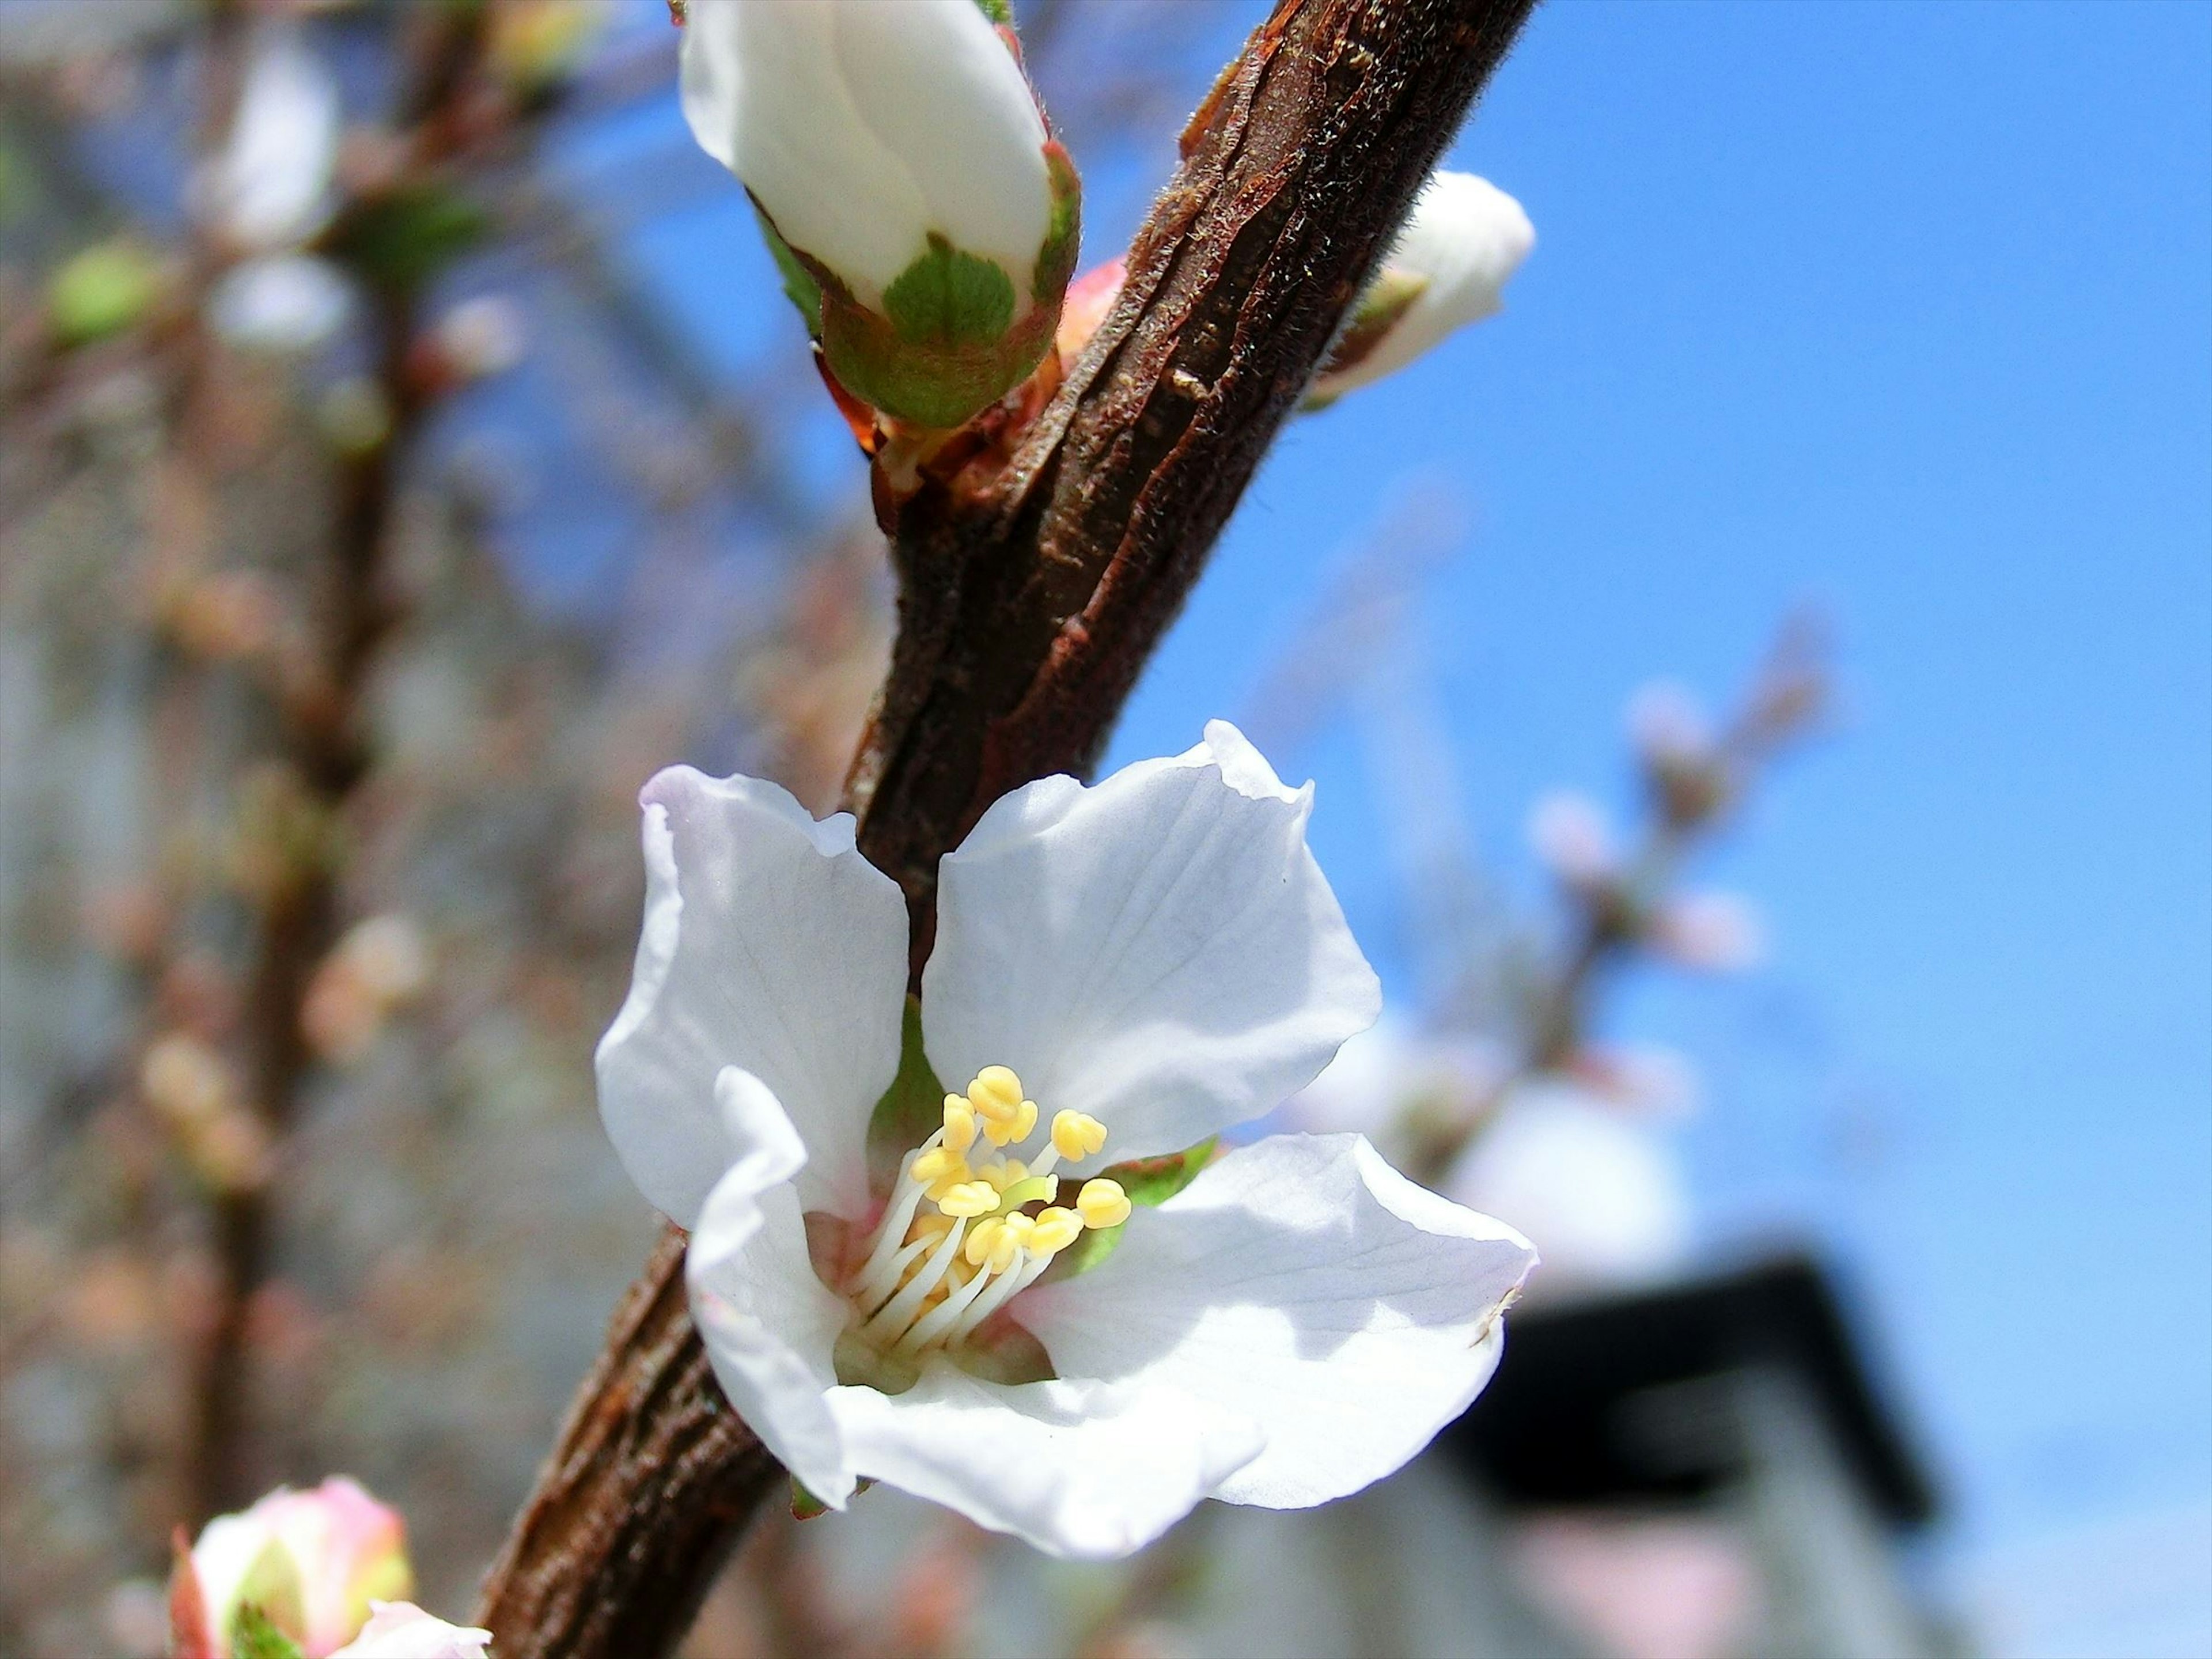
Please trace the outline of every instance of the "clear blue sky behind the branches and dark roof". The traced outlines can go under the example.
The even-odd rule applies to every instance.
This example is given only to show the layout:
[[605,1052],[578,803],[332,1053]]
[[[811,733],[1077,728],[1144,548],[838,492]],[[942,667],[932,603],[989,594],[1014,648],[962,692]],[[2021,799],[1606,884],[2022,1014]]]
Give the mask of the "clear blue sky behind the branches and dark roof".
[[[1190,0],[1192,88],[1261,11]],[[1091,259],[1168,146],[1091,173]],[[1528,801],[1619,787],[1630,690],[1723,699],[1825,606],[1840,730],[1710,872],[1772,967],[1613,1029],[1708,1066],[1717,1241],[1834,1245],[1969,1544],[2212,1491],[2208,157],[2199,4],[1555,0],[1453,157],[1537,223],[1509,310],[1294,427],[1117,739],[1245,708],[1389,504],[1451,489],[1420,644],[1528,883]],[[748,243],[717,206],[633,248],[732,372],[790,330]],[[1305,748],[1407,989],[1358,745]]]

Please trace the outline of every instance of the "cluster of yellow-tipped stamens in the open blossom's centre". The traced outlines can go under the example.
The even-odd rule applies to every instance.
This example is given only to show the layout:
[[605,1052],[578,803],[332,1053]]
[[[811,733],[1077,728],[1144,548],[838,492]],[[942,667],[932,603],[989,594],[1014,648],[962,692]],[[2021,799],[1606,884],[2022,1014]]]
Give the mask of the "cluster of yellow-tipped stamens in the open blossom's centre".
[[[964,1095],[945,1097],[945,1124],[907,1152],[867,1259],[843,1292],[854,1305],[847,1336],[889,1360],[916,1363],[958,1349],[1000,1307],[1033,1285],[1084,1228],[1128,1219],[1119,1181],[1084,1181],[1057,1203],[1062,1159],[1106,1146],[1106,1126],[1057,1113],[1046,1146],[1013,1157],[1037,1130],[1037,1102],[1006,1066],[984,1066]],[[978,1141],[993,1157],[971,1161]]]

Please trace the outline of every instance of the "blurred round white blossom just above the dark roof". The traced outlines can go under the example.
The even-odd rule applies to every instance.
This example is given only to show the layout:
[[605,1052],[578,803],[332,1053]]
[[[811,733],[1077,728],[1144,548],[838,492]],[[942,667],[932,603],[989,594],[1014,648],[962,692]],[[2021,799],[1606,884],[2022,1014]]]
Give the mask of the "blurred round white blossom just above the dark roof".
[[1663,1279],[1690,1252],[1672,1146],[1559,1077],[1517,1084],[1442,1186],[1535,1241],[1546,1294]]

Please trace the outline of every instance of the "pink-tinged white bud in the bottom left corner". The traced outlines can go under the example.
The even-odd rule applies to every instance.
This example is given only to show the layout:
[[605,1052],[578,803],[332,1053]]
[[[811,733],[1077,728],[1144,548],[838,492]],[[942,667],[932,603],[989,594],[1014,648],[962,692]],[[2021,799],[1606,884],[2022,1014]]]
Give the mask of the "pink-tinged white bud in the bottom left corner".
[[228,1655],[241,1606],[259,1606],[307,1659],[325,1659],[369,1617],[369,1604],[414,1590],[407,1528],[356,1482],[276,1489],[252,1509],[217,1515],[177,1564],[179,1619],[197,1608],[208,1652]]

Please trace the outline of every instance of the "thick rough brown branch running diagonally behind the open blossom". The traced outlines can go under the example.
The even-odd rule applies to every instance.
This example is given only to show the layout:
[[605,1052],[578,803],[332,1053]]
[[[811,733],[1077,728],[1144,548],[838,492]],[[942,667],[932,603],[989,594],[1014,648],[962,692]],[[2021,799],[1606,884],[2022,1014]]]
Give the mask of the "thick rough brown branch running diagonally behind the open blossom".
[[[1002,792],[1095,761],[1531,4],[1281,0],[1192,119],[1113,316],[1004,478],[907,502],[898,644],[847,803],[907,891],[916,962],[938,858]],[[664,1655],[776,1475],[712,1383],[670,1230],[491,1568],[493,1650]]]

